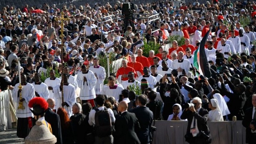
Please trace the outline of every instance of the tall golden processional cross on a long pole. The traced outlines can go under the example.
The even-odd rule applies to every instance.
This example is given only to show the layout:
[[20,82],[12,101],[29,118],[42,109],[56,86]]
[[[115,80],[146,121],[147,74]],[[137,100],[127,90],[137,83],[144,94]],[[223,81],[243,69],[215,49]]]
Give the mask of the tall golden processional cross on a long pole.
[[[64,21],[66,20],[70,20],[69,18],[64,18],[64,12],[61,12],[60,17],[56,17],[55,18],[56,21],[60,21],[60,26],[61,26],[61,87],[62,87],[62,91],[61,91],[61,101],[62,103],[64,102],[64,92],[63,92],[63,69],[64,69],[64,63],[63,63],[63,52],[66,50],[66,48],[63,47],[63,37],[65,37],[65,35],[63,35],[64,32]],[[63,107],[63,106],[62,106]]]

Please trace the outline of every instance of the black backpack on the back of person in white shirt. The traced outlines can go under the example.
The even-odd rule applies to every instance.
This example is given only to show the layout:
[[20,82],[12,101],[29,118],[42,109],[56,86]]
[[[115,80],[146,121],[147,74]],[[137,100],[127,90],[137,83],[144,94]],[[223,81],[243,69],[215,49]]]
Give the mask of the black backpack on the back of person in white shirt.
[[98,137],[106,137],[111,135],[113,132],[113,127],[111,124],[111,118],[108,110],[104,107],[103,110],[95,110],[95,125],[94,131],[95,135]]

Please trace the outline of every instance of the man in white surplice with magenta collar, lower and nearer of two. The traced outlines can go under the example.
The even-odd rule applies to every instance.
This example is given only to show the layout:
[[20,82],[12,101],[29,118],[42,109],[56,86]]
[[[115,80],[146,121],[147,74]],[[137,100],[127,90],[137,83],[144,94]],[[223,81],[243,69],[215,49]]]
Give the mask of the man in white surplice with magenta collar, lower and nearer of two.
[[109,97],[112,96],[118,101],[119,95],[122,94],[123,89],[122,85],[116,84],[116,78],[110,76],[108,77],[108,84],[103,86],[102,94],[106,94]]

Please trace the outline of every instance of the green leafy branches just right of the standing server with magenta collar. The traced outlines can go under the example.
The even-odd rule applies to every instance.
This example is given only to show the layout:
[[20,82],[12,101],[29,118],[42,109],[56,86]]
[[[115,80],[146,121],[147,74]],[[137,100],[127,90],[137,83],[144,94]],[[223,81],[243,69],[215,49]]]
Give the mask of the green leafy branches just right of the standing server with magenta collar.
[[[108,63],[108,60],[107,60],[107,55],[99,55],[98,58],[99,58],[99,65],[104,67],[105,70],[106,70],[106,74],[108,75],[108,65],[109,65],[109,71],[110,73],[113,73],[113,66],[112,66],[112,62],[115,58],[115,54],[113,52],[109,53],[109,63]],[[108,83],[108,79],[107,77],[105,78],[104,80],[104,84],[107,84]]]

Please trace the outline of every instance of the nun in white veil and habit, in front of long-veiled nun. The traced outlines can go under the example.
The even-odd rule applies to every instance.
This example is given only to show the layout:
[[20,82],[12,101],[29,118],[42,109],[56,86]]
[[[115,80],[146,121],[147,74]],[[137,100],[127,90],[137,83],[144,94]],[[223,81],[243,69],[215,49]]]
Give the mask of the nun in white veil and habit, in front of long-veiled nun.
[[220,107],[218,104],[217,99],[211,99],[208,104],[209,108],[211,109],[208,115],[209,121],[223,121],[223,115],[220,111]]

